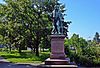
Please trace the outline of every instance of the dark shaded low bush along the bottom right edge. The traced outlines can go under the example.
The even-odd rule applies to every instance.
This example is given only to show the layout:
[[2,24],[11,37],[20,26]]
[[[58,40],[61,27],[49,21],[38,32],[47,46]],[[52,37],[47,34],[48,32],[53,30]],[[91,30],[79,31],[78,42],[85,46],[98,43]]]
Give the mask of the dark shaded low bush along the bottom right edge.
[[75,53],[70,53],[69,56],[71,61],[75,61],[77,65],[87,66],[87,67],[98,67],[100,66],[100,57],[79,55]]

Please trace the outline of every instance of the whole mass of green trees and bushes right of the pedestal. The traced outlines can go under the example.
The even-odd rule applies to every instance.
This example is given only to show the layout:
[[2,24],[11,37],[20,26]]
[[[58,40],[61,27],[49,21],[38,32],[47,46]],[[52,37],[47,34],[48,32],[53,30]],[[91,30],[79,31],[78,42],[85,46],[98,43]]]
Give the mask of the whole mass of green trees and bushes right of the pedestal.
[[65,40],[65,46],[68,46],[67,55],[71,61],[84,66],[100,66],[100,47],[94,40],[86,41],[73,34],[70,39]]

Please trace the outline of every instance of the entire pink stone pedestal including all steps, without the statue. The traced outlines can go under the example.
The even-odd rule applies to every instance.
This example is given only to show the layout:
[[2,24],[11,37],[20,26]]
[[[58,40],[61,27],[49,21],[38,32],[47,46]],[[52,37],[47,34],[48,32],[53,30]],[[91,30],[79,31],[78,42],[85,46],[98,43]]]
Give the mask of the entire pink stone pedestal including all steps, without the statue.
[[69,58],[65,57],[64,53],[64,35],[51,35],[51,54],[50,58],[45,60],[42,68],[78,68],[77,65],[72,64]]

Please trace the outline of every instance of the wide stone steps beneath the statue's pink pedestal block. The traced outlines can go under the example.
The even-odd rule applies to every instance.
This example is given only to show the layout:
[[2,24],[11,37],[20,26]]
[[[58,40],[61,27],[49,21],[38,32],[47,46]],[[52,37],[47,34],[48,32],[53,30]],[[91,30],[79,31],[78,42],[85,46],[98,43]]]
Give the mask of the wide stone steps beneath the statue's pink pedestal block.
[[78,68],[77,65],[71,64],[70,59],[46,59],[45,64],[41,65],[41,68]]

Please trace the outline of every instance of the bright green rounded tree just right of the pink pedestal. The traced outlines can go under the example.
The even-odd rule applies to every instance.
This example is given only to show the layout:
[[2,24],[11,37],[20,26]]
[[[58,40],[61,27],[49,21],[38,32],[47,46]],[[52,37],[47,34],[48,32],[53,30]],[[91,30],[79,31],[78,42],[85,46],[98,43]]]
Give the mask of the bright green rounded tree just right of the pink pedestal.
[[70,39],[65,40],[65,45],[68,46],[69,49],[71,47],[74,48],[76,54],[82,54],[82,51],[84,51],[88,43],[85,39],[79,37],[78,34],[73,34]]

